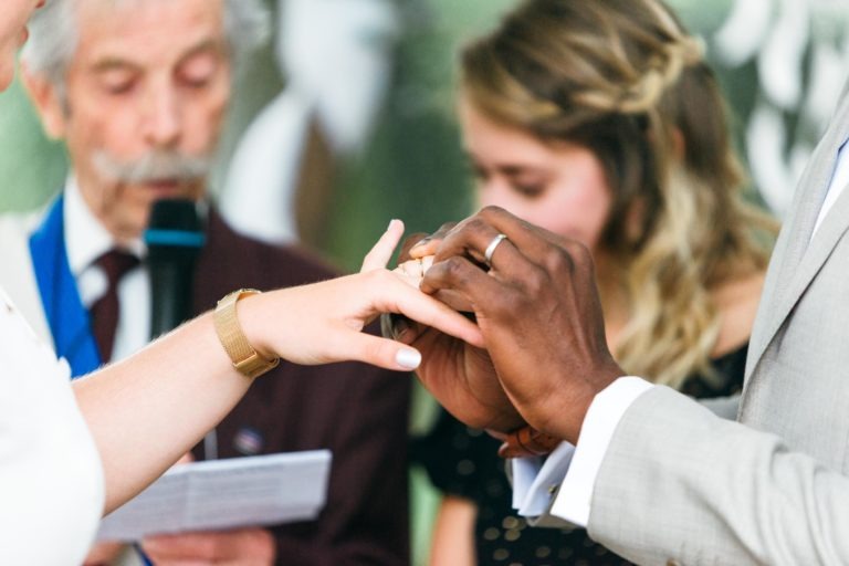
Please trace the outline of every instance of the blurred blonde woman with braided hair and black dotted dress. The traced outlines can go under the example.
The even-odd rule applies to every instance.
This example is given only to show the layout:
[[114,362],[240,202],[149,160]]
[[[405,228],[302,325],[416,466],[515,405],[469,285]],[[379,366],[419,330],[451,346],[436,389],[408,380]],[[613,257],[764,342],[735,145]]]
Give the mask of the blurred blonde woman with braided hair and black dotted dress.
[[[522,3],[463,52],[459,115],[480,203],[590,249],[626,371],[740,389],[776,226],[744,200],[713,74],[662,3]],[[421,443],[446,493],[432,565],[623,562],[525,528],[499,443],[447,413]]]

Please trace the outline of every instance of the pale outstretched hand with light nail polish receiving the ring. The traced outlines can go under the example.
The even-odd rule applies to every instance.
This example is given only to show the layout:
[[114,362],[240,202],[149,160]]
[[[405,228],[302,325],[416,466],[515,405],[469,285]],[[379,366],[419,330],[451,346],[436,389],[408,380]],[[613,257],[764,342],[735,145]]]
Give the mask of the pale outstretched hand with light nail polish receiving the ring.
[[355,275],[240,301],[239,317],[249,342],[265,357],[276,355],[296,364],[352,359],[410,370],[421,359],[417,350],[361,332],[381,313],[400,313],[482,346],[483,338],[473,323],[386,269],[402,233],[403,224],[392,221]]

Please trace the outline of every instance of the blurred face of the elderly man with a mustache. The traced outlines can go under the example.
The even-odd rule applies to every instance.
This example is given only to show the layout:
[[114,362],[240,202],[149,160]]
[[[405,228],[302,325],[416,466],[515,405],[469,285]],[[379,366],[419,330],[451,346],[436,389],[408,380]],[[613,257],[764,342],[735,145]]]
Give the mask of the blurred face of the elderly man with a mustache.
[[60,134],[119,239],[159,198],[198,198],[230,96],[221,0],[86,0]]

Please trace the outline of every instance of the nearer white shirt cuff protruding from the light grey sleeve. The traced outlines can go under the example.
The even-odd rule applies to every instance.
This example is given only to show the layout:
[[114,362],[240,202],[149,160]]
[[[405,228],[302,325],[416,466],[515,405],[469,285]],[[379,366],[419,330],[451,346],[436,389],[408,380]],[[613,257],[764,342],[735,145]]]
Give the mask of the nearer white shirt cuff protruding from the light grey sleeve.
[[593,399],[578,446],[552,505],[552,515],[578,526],[589,524],[593,489],[619,421],[639,396],[654,387],[639,377],[620,377]]

